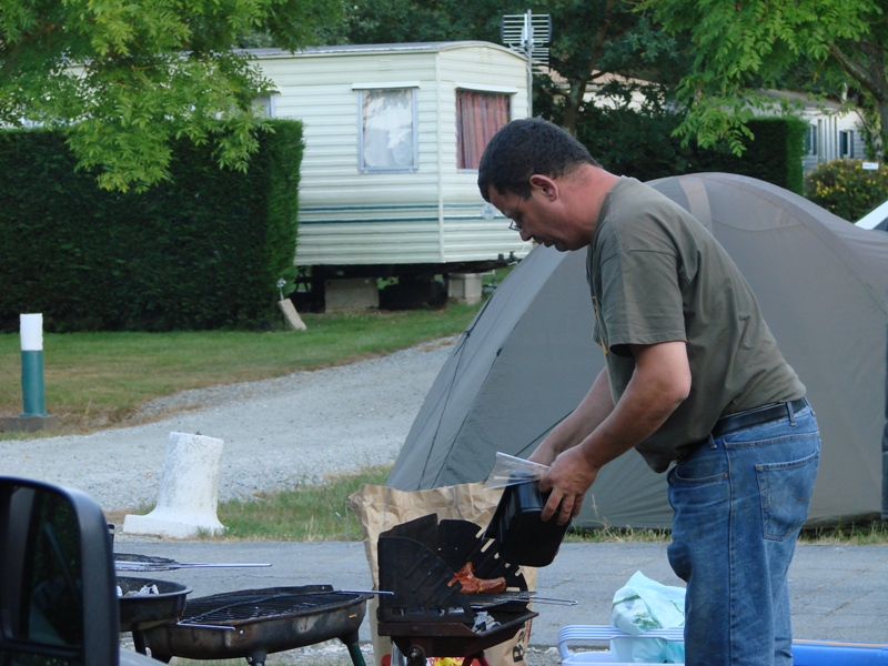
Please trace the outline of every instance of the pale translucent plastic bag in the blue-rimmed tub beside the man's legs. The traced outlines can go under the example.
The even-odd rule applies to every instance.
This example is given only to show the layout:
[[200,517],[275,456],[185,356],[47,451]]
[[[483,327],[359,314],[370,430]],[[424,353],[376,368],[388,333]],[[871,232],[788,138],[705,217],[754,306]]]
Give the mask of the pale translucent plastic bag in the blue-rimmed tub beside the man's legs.
[[[685,588],[670,587],[636,572],[614,595],[610,626],[627,634],[685,626]],[[684,664],[685,645],[665,638],[614,638],[616,662]]]

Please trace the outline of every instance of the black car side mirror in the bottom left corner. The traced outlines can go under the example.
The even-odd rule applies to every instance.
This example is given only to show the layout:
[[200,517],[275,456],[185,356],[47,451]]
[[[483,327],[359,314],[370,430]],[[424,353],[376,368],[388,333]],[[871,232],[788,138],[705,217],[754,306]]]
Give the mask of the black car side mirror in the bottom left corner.
[[0,663],[118,666],[111,537],[89,496],[0,477]]

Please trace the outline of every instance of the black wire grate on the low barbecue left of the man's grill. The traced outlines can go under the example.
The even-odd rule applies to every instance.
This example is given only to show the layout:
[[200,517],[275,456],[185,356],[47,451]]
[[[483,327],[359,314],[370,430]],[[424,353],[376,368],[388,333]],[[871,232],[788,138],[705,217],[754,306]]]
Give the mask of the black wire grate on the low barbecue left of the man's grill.
[[232,592],[189,601],[179,622],[231,625],[273,617],[314,615],[354,604],[360,599],[360,594],[345,592]]

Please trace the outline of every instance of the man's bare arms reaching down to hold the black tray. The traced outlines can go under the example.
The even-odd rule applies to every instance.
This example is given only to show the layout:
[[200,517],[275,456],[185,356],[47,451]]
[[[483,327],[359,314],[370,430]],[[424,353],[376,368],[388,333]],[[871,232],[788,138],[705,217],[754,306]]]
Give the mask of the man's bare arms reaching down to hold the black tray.
[[[598,471],[654,434],[690,392],[690,366],[683,341],[630,345],[630,349],[635,356],[635,371],[613,410],[595,423],[605,411],[601,406],[599,391],[603,382],[599,375],[581,403],[582,406],[589,401],[599,406],[588,404],[579,414],[577,407],[565,420],[574,422],[565,426],[565,433],[569,435],[559,437],[558,442],[569,444],[573,438],[574,443],[566,445],[561,452],[557,451],[558,444],[555,441],[546,446],[556,428],[539,445],[541,448],[546,446],[541,457],[546,453],[557,454],[552,468],[539,481],[541,491],[552,491],[543,508],[544,521],[557,513],[558,524],[564,524],[571,516],[578,515],[583,497]],[[609,389],[607,402],[610,402]],[[585,436],[577,441],[584,425],[593,425],[593,430],[586,431]]]

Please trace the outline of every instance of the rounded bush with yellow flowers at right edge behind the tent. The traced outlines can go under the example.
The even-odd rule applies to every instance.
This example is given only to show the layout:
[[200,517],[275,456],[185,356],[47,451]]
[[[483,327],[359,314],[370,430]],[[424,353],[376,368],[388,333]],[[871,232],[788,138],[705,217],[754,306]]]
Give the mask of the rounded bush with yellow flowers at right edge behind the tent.
[[888,200],[888,167],[864,169],[862,160],[823,162],[805,179],[805,196],[839,218],[856,222]]

